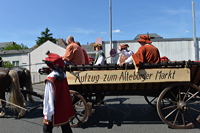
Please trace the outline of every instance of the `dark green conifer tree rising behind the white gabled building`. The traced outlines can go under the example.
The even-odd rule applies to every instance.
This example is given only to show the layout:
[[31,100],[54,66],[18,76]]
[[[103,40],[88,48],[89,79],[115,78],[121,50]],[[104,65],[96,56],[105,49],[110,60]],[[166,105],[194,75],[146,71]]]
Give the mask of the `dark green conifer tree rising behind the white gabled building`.
[[37,46],[40,46],[41,44],[45,43],[47,40],[56,43],[56,39],[52,37],[52,33],[49,33],[49,29],[46,28],[45,31],[41,32],[42,37],[37,37],[38,40],[36,40]]

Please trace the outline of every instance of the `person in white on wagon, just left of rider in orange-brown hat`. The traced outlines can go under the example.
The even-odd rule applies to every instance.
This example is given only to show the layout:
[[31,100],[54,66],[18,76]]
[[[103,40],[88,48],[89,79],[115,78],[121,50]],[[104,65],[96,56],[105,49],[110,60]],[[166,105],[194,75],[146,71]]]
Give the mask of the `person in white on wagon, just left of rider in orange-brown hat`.
[[[119,63],[124,62],[126,59],[128,59],[128,57],[130,57],[133,53],[133,51],[128,50],[129,45],[128,44],[118,44],[117,48],[118,50],[121,52],[121,54],[119,55],[119,58],[117,60],[117,64],[119,65]],[[130,64],[132,64],[132,62],[129,62]]]

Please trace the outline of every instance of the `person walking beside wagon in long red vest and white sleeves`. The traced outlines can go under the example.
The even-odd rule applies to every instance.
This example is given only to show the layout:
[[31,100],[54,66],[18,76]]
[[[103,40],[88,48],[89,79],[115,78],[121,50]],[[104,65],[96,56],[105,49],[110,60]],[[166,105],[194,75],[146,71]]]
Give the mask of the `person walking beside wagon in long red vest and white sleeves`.
[[43,132],[52,133],[53,127],[61,126],[63,133],[72,133],[69,121],[74,117],[74,108],[63,72],[65,63],[54,53],[49,53],[43,61],[52,69],[45,79]]

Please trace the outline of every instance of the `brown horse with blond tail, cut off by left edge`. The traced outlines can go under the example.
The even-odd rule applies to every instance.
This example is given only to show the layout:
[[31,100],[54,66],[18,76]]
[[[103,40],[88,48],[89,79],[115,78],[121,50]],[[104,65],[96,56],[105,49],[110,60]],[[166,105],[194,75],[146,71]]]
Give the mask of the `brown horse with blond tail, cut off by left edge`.
[[[24,97],[20,91],[20,84],[18,74],[14,70],[8,70],[0,67],[0,99],[6,101],[5,92],[10,92],[10,103],[24,107]],[[6,114],[6,102],[1,100],[2,111],[0,117],[4,117]],[[11,109],[19,112],[18,117],[22,117],[25,114],[25,110],[10,104]]]

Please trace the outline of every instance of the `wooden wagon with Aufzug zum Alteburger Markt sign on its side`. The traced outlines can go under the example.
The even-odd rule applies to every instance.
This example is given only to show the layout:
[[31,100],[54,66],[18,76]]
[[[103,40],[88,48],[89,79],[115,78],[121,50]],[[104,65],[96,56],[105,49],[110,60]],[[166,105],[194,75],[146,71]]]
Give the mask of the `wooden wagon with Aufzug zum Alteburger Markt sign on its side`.
[[[66,74],[76,118],[81,125],[105,96],[140,95],[157,108],[160,119],[172,128],[191,128],[200,122],[200,63],[193,61],[119,67],[67,66]],[[88,106],[91,105],[91,106]]]

